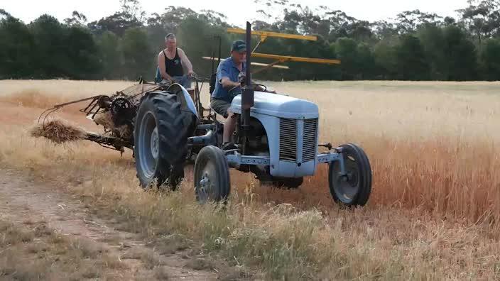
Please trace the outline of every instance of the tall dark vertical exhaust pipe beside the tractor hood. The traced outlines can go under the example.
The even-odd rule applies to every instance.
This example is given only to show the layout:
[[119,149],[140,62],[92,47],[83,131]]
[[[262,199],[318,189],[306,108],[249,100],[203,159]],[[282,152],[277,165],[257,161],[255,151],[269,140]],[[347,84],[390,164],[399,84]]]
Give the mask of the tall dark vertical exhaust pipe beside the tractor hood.
[[244,143],[243,143],[243,155],[245,154],[246,146],[246,136],[250,129],[250,109],[254,106],[254,89],[249,85],[251,83],[250,78],[250,57],[251,57],[251,26],[250,23],[246,22],[246,73],[245,73],[245,88],[241,94],[241,127],[243,128]]

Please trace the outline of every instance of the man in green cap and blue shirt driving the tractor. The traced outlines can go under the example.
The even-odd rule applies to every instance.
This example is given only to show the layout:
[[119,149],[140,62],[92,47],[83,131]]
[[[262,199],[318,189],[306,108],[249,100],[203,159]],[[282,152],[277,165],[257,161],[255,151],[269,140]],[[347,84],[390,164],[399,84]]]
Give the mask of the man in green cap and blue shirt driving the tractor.
[[[231,45],[231,56],[222,60],[217,67],[217,78],[210,107],[227,119],[224,123],[222,137],[222,149],[236,148],[231,142],[231,135],[237,124],[236,116],[229,110],[231,101],[241,94],[241,86],[245,79],[246,71],[246,43],[244,40],[236,40]],[[261,88],[260,86],[257,87]],[[266,91],[276,93],[275,91]]]

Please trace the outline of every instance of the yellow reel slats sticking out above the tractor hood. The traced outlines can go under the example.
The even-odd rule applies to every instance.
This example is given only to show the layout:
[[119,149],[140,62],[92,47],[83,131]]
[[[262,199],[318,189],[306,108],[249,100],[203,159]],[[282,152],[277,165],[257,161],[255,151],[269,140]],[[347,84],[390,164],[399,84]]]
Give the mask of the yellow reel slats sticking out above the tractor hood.
[[[241,33],[241,34],[246,33],[246,31],[244,29],[241,29],[241,28],[227,28],[227,31],[229,33]],[[264,41],[266,41],[266,39],[268,37],[316,41],[317,37],[313,36],[313,35],[297,35],[297,34],[288,34],[288,33],[278,33],[278,32],[272,32],[272,31],[252,31],[252,35],[259,35],[261,40],[259,40],[259,43],[257,43],[257,45],[254,47],[254,50],[252,50],[251,56],[274,60],[274,62],[271,62],[270,64],[261,64],[261,66],[263,66],[263,68],[252,72],[253,74],[261,72],[263,70],[267,70],[271,67],[281,68],[281,65],[279,65],[279,64],[281,64],[283,62],[287,62],[287,61],[290,61],[290,62],[312,62],[312,63],[321,63],[321,64],[328,64],[328,65],[339,65],[340,64],[340,60],[322,59],[322,58],[314,58],[314,57],[293,57],[290,55],[271,55],[271,54],[256,53],[257,48],[259,48],[259,46]]]

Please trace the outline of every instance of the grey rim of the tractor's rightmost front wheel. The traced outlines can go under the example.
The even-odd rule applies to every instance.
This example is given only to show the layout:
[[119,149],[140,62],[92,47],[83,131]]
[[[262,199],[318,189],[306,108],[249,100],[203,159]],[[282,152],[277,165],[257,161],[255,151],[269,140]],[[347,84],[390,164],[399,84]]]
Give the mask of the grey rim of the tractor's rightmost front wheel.
[[352,155],[345,155],[344,166],[347,176],[342,176],[340,173],[339,162],[335,162],[332,169],[333,186],[337,198],[346,204],[349,204],[356,199],[360,187],[360,175],[358,167],[358,159]]

